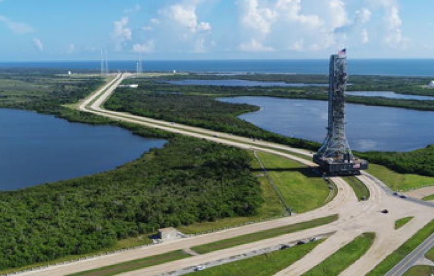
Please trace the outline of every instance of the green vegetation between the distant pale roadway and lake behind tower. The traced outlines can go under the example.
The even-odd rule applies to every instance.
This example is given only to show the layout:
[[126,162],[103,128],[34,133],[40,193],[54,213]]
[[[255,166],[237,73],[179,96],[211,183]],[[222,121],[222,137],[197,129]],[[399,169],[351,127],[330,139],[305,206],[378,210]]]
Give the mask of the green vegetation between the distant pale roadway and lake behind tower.
[[[176,121],[245,137],[262,138],[299,148],[315,150],[320,145],[304,139],[278,135],[238,119],[237,115],[258,109],[249,104],[228,104],[218,102],[207,95],[182,94],[179,90],[187,89],[184,86],[174,86],[174,89],[168,89],[163,84],[143,84],[140,87],[144,88],[116,89],[116,93],[109,98],[105,106],[116,111]],[[199,91],[203,92],[203,87]]]

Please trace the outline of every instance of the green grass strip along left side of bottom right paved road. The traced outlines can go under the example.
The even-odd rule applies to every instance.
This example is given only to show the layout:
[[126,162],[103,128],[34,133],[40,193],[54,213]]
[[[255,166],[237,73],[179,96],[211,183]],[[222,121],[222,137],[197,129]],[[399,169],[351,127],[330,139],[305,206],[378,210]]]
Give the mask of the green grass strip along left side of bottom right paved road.
[[434,220],[416,232],[407,242],[404,242],[392,254],[383,259],[367,276],[380,276],[391,270],[401,259],[412,252],[420,243],[434,232]]

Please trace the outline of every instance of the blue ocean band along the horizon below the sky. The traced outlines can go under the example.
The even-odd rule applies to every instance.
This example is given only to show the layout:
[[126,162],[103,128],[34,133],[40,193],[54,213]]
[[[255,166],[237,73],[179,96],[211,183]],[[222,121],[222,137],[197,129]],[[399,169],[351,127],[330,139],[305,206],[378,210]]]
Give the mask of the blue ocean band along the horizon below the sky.
[[[100,61],[0,62],[0,67],[99,70]],[[328,74],[328,60],[144,61],[145,70]],[[136,61],[109,61],[110,70],[135,70]],[[348,72],[362,75],[434,76],[434,59],[348,59]]]

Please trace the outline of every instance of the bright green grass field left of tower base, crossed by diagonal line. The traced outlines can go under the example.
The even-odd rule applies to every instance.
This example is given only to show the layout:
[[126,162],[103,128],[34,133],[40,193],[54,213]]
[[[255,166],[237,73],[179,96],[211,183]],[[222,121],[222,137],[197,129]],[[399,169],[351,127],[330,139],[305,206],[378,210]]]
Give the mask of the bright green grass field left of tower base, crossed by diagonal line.
[[[263,173],[260,164],[252,155],[253,174],[261,183],[262,196],[265,200],[258,215],[253,217],[236,217],[220,219],[214,222],[203,222],[181,225],[178,229],[185,234],[195,234],[223,227],[240,225],[246,222],[282,216],[285,207],[270,181]],[[324,180],[310,171],[307,166],[288,158],[267,153],[258,153],[259,158],[268,170],[274,184],[285,198],[285,202],[296,213],[306,212],[326,204],[330,193]],[[333,199],[334,195],[328,199]]]

